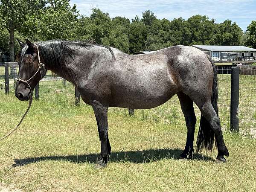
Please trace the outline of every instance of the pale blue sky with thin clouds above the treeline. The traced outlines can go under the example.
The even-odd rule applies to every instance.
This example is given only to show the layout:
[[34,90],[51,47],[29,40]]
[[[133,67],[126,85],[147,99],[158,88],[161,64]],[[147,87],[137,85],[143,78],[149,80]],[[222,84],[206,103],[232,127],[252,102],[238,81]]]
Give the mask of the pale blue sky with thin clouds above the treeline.
[[142,17],[147,9],[158,19],[168,20],[207,15],[216,23],[232,20],[243,31],[256,20],[256,0],[71,0],[70,4],[76,4],[81,15],[89,16],[92,8],[99,8],[108,12],[111,18],[122,16],[130,20],[136,15]]

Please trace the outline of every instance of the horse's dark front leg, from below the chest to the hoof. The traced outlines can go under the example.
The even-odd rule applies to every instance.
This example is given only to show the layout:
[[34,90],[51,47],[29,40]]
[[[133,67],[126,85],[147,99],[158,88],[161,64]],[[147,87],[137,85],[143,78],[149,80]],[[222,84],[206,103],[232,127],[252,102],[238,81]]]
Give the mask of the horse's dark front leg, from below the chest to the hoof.
[[96,100],[93,100],[92,106],[98,125],[101,146],[97,164],[98,166],[104,167],[107,165],[111,153],[111,146],[108,140],[108,107]]

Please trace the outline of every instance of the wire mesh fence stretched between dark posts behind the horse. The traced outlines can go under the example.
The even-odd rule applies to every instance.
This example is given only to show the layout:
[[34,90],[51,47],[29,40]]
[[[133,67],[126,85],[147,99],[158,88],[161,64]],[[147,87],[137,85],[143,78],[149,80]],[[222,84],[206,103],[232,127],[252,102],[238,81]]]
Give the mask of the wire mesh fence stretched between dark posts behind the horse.
[[[246,70],[246,68],[244,68]],[[248,71],[251,68],[247,69]],[[256,137],[256,74],[239,76],[239,131],[248,137]],[[15,91],[15,78],[18,69],[11,70],[9,67],[9,87],[10,93]],[[231,93],[231,67],[222,67],[218,69],[219,82],[219,117],[223,129],[230,130],[230,93]],[[0,67],[0,91],[5,90],[4,67]],[[45,102],[51,102],[54,105],[69,107],[75,105],[75,87],[61,77],[52,76],[50,71],[39,83],[39,98]],[[110,108],[110,111],[116,111],[128,116],[128,109]],[[200,119],[201,112],[195,107],[195,113]],[[148,110],[135,110],[136,118],[151,120],[154,122],[164,121],[166,124],[177,123],[179,120],[185,123],[184,116],[180,108],[180,102],[175,95],[165,104]],[[199,121],[198,121],[199,122]]]

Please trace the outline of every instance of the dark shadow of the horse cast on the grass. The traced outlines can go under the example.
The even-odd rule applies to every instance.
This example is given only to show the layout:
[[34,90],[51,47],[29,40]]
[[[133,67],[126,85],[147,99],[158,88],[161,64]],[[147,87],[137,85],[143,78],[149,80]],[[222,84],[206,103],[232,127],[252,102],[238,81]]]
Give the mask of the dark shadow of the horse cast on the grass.
[[[111,162],[130,162],[130,163],[150,163],[162,159],[179,160],[179,155],[183,152],[180,149],[149,149],[144,151],[119,151],[111,153]],[[36,163],[46,160],[66,160],[73,163],[94,163],[99,154],[84,154],[84,155],[70,155],[70,156],[43,156],[30,157],[25,159],[15,159],[13,167],[24,166],[30,163]],[[203,156],[201,154],[194,154],[193,160],[212,160],[212,158]]]

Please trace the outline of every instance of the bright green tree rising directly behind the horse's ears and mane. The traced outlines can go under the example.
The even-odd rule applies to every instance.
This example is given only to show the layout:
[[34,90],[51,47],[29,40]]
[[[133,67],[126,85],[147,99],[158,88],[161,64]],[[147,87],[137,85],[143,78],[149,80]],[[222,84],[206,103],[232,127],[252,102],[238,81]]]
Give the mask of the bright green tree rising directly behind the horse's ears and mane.
[[48,0],[47,5],[34,12],[26,25],[30,29],[26,35],[35,40],[75,39],[78,28],[79,11],[70,0]]

